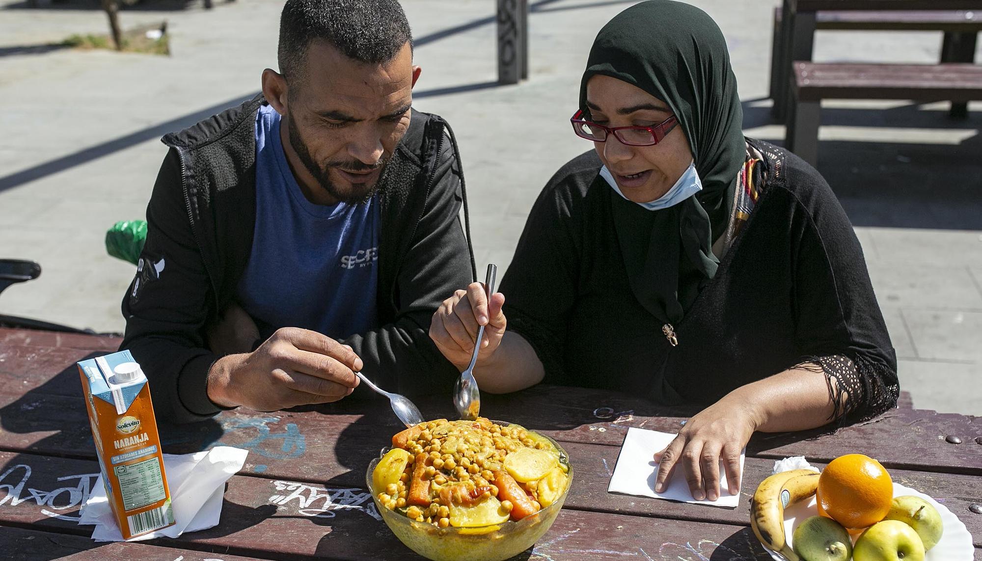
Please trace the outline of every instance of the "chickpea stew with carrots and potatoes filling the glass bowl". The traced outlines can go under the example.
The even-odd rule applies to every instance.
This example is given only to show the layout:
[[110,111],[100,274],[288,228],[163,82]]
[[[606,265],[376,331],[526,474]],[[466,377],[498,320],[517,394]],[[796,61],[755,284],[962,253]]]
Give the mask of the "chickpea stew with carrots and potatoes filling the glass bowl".
[[372,472],[385,508],[438,528],[521,520],[555,502],[570,483],[565,455],[518,425],[429,421],[396,434]]

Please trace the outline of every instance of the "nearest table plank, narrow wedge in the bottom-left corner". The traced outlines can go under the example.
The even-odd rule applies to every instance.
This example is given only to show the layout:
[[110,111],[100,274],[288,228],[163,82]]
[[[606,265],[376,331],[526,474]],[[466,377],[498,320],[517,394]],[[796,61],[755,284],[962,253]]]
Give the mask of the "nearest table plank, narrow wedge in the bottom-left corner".
[[25,528],[0,528],[0,551],[11,561],[250,561],[218,553],[202,553],[176,547],[160,547],[141,542],[96,543],[88,537],[40,532]]

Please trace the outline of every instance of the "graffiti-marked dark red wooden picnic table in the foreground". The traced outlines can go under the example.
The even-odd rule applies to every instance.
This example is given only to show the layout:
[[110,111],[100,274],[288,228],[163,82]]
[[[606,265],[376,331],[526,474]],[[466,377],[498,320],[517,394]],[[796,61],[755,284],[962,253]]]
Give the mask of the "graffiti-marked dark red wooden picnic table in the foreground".
[[[193,425],[160,425],[164,450],[223,444],[248,449],[225,491],[221,524],[176,539],[95,543],[77,524],[98,468],[75,363],[115,351],[100,335],[0,329],[0,550],[5,558],[418,559],[385,526],[365,488],[368,462],[400,430],[384,401],[319,408],[224,412]],[[153,389],[151,383],[151,391]],[[449,396],[417,400],[449,417]],[[862,452],[894,481],[937,498],[961,519],[982,560],[982,418],[909,405],[832,431],[757,434],[747,446],[736,509],[607,492],[627,427],[675,432],[690,411],[630,395],[538,385],[486,395],[481,414],[549,434],[570,453],[573,488],[550,531],[517,559],[735,560],[770,557],[748,527],[753,489],[775,459],[804,455],[821,466]],[[958,442],[958,443],[955,443]]]

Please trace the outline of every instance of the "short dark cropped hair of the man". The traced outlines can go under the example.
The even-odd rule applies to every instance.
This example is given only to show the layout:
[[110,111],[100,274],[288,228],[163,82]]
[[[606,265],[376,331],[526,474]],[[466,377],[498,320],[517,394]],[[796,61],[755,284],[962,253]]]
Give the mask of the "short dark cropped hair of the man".
[[363,63],[387,63],[412,46],[406,13],[397,0],[287,0],[280,16],[280,73],[302,77],[307,48],[327,41]]

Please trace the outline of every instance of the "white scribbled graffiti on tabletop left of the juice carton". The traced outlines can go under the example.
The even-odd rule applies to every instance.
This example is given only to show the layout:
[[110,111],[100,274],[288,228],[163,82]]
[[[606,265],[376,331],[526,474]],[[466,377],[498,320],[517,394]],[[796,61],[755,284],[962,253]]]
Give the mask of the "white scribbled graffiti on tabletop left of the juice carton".
[[[58,481],[69,483],[69,485],[42,490],[27,486],[30,474],[30,466],[16,464],[0,475],[0,495],[2,495],[0,496],[0,506],[18,506],[23,502],[33,501],[34,504],[41,507],[41,513],[45,516],[72,522],[79,521],[77,512],[69,516],[58,511],[81,507],[88,500],[92,484],[99,477],[99,474],[65,476],[58,478]],[[27,495],[24,494],[25,490],[27,490]]]

